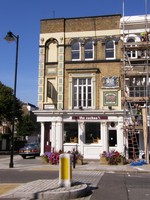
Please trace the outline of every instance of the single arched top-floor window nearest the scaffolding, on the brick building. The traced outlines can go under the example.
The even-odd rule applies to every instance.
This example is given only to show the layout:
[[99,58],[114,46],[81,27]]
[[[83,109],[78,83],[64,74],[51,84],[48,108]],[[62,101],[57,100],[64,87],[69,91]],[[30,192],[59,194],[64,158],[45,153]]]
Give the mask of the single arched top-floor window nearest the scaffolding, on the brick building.
[[115,58],[115,42],[113,40],[108,40],[105,43],[105,56],[106,59]]

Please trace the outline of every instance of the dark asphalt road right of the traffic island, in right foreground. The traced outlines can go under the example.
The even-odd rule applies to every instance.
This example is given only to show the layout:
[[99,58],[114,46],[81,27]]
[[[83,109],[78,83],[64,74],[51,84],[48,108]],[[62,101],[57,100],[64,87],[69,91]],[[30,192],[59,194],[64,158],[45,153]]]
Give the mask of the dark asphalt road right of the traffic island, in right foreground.
[[150,174],[105,173],[90,200],[150,200]]

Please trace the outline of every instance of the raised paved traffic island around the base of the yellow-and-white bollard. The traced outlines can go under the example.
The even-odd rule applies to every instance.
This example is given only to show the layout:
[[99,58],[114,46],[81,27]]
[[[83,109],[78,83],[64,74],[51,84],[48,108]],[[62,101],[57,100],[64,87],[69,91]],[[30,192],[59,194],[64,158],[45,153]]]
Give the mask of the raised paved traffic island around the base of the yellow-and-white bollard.
[[91,189],[95,188],[103,176],[98,171],[81,171],[73,174],[74,180],[70,188],[60,187],[59,180],[36,180],[22,184],[14,190],[0,196],[0,199],[51,199],[66,200],[85,197],[90,194]]

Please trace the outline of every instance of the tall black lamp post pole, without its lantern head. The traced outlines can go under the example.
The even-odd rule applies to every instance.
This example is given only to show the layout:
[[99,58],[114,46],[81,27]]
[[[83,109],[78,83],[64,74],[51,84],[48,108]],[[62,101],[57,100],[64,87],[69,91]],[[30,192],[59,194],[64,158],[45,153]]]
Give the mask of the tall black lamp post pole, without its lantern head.
[[15,75],[14,75],[14,94],[13,94],[13,121],[12,121],[12,133],[11,133],[11,152],[10,152],[10,163],[9,168],[14,167],[13,156],[14,156],[14,130],[15,130],[15,113],[16,113],[16,86],[17,86],[17,68],[18,68],[18,46],[19,36],[16,38],[16,60],[15,60]]

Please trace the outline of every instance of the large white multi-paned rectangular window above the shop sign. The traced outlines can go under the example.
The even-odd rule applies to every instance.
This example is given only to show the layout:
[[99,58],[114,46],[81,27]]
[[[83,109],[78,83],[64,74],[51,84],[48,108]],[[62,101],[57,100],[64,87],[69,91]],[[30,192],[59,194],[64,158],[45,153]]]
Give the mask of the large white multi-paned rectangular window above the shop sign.
[[91,108],[92,83],[91,78],[73,79],[73,105],[74,108]]

